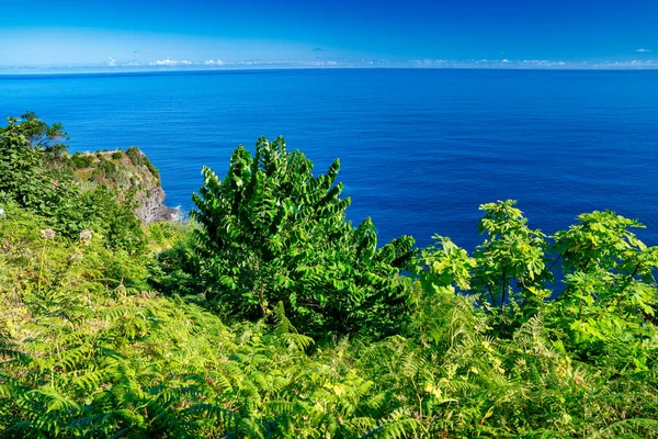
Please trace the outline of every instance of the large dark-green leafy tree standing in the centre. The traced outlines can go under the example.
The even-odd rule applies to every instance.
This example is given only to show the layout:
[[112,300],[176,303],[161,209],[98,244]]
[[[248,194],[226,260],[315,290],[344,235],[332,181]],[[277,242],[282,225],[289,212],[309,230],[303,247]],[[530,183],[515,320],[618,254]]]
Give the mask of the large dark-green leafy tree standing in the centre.
[[236,149],[224,181],[203,169],[192,216],[211,303],[256,319],[283,302],[293,324],[314,334],[396,331],[406,306],[396,277],[413,240],[377,249],[370,218],[347,222],[339,168],[336,160],[313,177],[311,161],[283,138],[260,138],[253,157]]

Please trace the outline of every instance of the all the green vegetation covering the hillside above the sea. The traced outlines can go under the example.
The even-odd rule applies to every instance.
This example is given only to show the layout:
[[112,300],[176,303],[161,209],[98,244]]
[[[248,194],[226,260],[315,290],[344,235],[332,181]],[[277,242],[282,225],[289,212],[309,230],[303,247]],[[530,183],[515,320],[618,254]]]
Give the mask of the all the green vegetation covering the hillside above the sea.
[[203,170],[192,223],[144,226],[61,138],[0,128],[1,436],[658,437],[637,222],[546,236],[499,201],[473,255],[378,245],[338,161],[260,139]]

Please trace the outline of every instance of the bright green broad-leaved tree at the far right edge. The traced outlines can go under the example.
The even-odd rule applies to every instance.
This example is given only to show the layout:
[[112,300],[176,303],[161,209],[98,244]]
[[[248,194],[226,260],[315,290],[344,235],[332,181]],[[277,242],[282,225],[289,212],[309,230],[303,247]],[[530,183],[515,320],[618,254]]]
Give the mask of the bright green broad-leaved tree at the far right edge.
[[647,369],[656,354],[646,349],[646,340],[655,330],[648,320],[658,305],[658,247],[647,247],[629,230],[642,224],[614,212],[578,219],[555,234],[566,288],[555,304],[559,318],[554,325],[568,329],[568,342],[581,354],[622,358],[622,368]]

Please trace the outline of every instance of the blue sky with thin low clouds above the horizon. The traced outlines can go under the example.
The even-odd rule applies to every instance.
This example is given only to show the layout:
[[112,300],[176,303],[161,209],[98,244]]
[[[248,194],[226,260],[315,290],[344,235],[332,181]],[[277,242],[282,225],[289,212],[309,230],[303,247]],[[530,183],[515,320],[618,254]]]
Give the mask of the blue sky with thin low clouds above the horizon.
[[0,0],[0,68],[658,68],[658,1]]

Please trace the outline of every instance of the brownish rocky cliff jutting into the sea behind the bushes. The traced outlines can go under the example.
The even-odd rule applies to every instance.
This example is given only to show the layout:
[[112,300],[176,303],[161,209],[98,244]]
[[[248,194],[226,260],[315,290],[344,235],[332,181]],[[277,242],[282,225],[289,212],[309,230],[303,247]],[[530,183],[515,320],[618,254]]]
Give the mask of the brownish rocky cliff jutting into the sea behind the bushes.
[[75,176],[81,183],[105,184],[126,198],[134,194],[135,214],[144,223],[172,221],[178,209],[164,205],[160,173],[148,157],[136,147],[125,151],[79,154],[70,157]]

